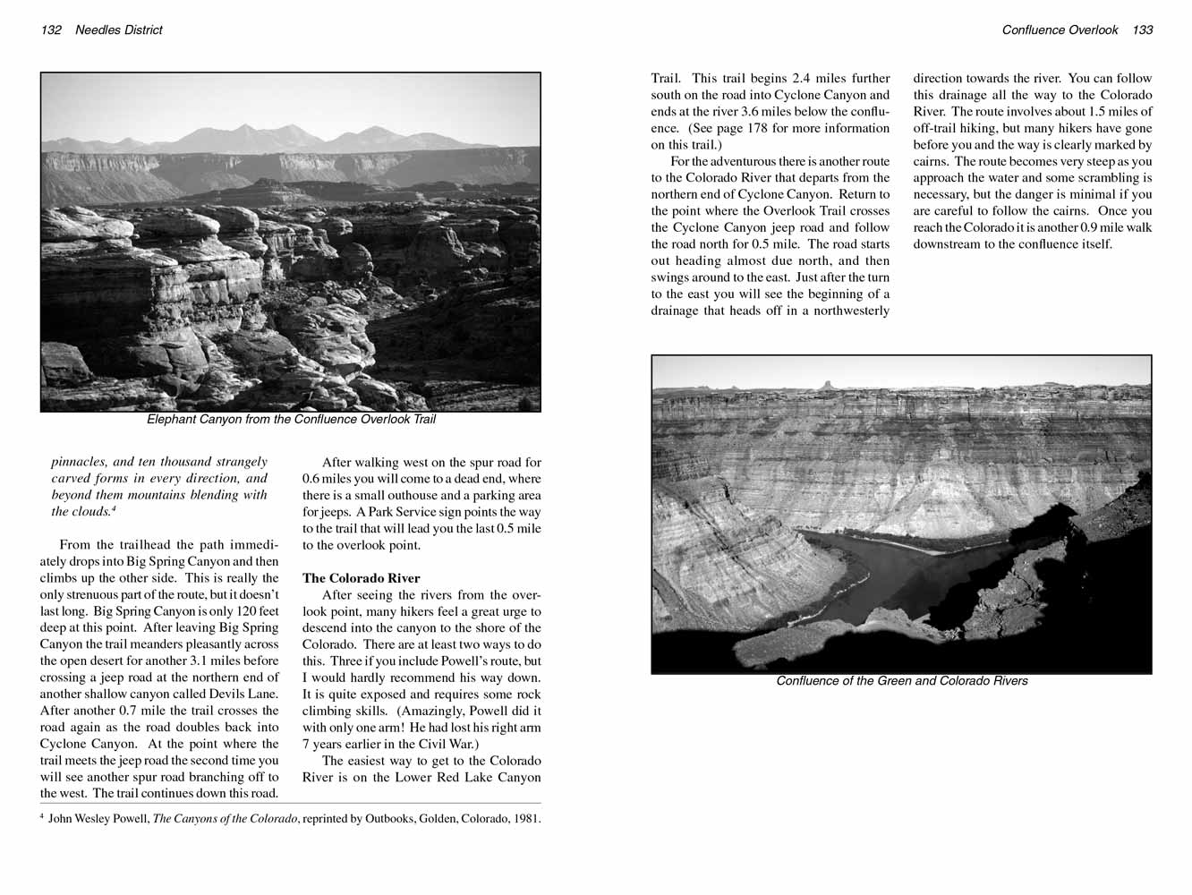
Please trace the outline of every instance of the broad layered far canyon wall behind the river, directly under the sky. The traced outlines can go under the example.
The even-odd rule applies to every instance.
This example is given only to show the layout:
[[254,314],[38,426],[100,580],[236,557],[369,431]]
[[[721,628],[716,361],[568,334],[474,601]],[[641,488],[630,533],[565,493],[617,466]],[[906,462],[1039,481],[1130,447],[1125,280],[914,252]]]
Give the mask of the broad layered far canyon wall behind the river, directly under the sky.
[[660,391],[653,443],[787,526],[967,537],[1120,495],[1150,466],[1150,387]]

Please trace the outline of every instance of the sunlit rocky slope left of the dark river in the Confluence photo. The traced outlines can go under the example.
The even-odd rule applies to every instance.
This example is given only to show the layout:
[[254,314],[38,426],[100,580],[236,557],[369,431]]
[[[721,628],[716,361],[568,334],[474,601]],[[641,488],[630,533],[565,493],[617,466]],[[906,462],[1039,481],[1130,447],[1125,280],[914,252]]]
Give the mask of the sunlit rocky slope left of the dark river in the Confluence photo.
[[724,479],[657,456],[654,632],[751,630],[822,599],[845,572],[833,554],[733,501]]

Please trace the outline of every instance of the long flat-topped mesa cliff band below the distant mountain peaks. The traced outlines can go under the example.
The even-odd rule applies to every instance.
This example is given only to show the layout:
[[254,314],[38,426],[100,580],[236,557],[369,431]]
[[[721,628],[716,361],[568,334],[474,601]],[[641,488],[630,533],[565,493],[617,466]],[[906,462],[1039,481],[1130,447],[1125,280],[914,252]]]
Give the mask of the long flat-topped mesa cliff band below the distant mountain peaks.
[[353,181],[385,187],[453,181],[541,180],[538,147],[322,155],[83,155],[42,153],[42,206],[160,201],[212,189],[281,182]]

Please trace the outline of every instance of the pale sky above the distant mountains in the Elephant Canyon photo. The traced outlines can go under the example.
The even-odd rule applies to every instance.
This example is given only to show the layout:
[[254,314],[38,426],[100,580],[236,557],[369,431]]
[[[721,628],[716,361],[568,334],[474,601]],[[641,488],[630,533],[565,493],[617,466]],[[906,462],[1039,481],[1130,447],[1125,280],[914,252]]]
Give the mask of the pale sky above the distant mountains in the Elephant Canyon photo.
[[379,126],[465,144],[538,145],[539,80],[534,73],[43,74],[42,141],[173,142],[199,128],[247,123],[293,124],[323,141]]

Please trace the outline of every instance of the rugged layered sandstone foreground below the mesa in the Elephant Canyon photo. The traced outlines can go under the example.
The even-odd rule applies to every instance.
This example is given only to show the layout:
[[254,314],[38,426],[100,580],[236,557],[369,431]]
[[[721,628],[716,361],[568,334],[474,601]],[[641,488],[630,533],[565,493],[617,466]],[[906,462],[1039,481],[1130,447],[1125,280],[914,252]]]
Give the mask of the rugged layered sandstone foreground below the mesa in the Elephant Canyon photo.
[[43,409],[536,406],[540,279],[484,267],[492,209],[45,209]]

